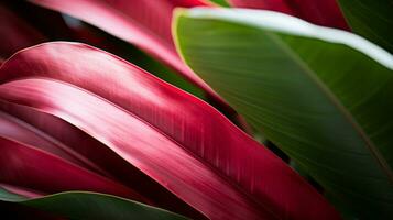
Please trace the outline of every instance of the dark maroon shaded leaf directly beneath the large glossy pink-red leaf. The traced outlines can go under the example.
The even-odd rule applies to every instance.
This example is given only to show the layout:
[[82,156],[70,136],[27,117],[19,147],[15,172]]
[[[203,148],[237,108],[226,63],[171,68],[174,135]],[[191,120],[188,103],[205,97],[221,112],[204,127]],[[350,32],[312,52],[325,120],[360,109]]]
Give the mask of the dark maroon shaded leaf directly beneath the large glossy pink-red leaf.
[[[1,130],[2,135],[6,135],[6,138],[18,138],[19,142],[25,144],[35,142],[34,147],[42,148],[47,153],[61,156],[65,161],[76,163],[91,172],[120,182],[124,186],[143,195],[143,199],[133,199],[186,216],[198,217],[197,212],[188,205],[185,205],[181,199],[129,164],[105,144],[73,124],[32,108],[4,101],[0,102],[0,109],[9,118],[12,118],[12,121],[20,122],[22,128],[29,128],[30,130],[28,133],[30,135],[25,135],[26,132],[20,133],[21,130],[14,130],[14,125],[7,128],[8,124],[4,123],[1,125]],[[18,131],[20,134],[11,136],[9,135],[10,131],[15,131],[14,133]],[[35,135],[31,135],[31,133],[35,133]],[[70,155],[68,156],[68,154]],[[12,187],[12,191],[14,191],[15,186],[13,185]],[[20,191],[20,188],[17,190]],[[28,195],[28,197],[36,196]]]

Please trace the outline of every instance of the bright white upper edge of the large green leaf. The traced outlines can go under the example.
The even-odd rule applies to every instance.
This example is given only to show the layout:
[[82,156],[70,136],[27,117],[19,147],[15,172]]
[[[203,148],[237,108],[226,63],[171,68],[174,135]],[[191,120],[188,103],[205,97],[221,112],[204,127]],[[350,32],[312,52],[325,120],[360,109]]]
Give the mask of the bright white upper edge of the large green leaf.
[[212,9],[199,7],[187,10],[184,15],[193,19],[220,19],[264,30],[343,44],[363,53],[393,70],[393,55],[370,41],[350,32],[318,26],[280,12],[253,9]]

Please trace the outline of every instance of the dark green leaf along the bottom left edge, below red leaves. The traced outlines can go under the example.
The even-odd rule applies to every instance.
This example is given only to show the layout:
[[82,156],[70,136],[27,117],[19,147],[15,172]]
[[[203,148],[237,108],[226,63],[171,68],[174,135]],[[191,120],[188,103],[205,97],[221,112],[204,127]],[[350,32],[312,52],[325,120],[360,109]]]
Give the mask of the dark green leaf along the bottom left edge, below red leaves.
[[110,195],[68,191],[36,199],[25,199],[0,188],[0,200],[14,201],[73,220],[185,220],[179,215]]

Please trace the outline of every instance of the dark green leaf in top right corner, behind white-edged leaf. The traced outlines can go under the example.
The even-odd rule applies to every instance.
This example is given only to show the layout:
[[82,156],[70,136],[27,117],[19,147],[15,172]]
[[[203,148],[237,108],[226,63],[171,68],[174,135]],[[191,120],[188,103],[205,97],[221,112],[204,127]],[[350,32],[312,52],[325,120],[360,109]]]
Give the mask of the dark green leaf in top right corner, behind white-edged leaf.
[[392,0],[339,0],[352,31],[393,53]]

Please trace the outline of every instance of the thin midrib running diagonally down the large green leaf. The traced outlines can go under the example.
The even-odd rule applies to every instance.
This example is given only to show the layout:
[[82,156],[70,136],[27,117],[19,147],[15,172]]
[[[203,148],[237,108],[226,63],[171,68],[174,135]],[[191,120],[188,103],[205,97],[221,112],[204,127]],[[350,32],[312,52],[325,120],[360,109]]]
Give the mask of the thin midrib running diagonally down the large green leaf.
[[357,120],[351,116],[350,111],[340,102],[340,100],[335,96],[330,89],[325,86],[325,84],[314,74],[314,70],[297,55],[295,52],[286,45],[275,33],[265,32],[265,34],[281,48],[285,54],[288,55],[291,59],[295,62],[304,73],[314,81],[318,88],[326,95],[328,100],[343,114],[343,118],[347,119],[349,124],[354,129],[354,131],[359,134],[361,140],[365,143],[368,150],[371,152],[371,155],[376,160],[376,163],[380,165],[382,170],[387,176],[387,179],[393,184],[393,170],[389,166],[385,158],[382,156],[381,152],[376,147],[376,145],[371,141],[368,134],[364,132],[362,127],[357,122]]

